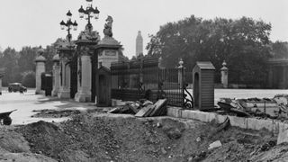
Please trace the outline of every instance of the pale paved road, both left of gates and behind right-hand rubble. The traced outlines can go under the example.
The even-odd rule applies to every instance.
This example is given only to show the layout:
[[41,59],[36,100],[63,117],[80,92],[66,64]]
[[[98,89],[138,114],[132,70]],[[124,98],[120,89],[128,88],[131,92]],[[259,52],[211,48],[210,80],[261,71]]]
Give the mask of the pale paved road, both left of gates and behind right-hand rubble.
[[[34,121],[63,121],[61,119],[40,119],[31,118],[35,112],[33,110],[41,109],[78,109],[85,111],[87,108],[94,108],[88,103],[76,103],[74,101],[59,101],[56,98],[48,98],[44,95],[35,95],[34,90],[28,90],[25,94],[8,93],[3,91],[0,95],[0,112],[9,112],[17,109],[10,116],[13,119],[12,124],[27,124]],[[220,97],[229,98],[249,98],[249,97],[268,97],[272,98],[275,94],[288,94],[288,90],[251,90],[251,89],[215,89],[215,103]]]

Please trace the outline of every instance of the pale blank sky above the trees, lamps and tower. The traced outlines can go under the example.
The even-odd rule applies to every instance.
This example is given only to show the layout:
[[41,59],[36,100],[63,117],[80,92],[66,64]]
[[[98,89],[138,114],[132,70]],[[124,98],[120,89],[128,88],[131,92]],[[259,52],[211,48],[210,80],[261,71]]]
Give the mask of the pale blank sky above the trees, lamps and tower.
[[[86,23],[78,18],[81,4],[85,6],[85,0],[0,0],[0,47],[45,47],[65,38],[67,31],[61,31],[59,23],[66,21],[67,10],[79,24],[72,31],[76,38]],[[148,34],[155,34],[160,25],[191,14],[204,19],[252,17],[272,23],[271,40],[288,40],[288,0],[94,0],[93,4],[100,10],[94,30],[103,37],[104,20],[111,15],[113,37],[121,41],[129,58],[135,55],[138,31],[145,48]]]

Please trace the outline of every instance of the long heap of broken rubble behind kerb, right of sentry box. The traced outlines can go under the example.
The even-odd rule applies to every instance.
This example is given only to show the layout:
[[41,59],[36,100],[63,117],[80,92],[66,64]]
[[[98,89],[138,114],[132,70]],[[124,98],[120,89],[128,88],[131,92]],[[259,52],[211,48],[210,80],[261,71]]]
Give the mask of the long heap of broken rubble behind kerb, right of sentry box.
[[258,117],[270,119],[288,119],[288,95],[277,94],[274,98],[230,99],[220,98],[219,108],[214,111],[220,114],[240,117]]

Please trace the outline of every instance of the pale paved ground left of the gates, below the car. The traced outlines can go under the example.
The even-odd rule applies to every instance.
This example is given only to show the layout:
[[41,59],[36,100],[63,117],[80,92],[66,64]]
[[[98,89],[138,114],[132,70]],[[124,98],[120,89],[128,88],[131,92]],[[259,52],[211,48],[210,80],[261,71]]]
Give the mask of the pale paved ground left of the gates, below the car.
[[25,94],[8,93],[3,91],[3,94],[0,95],[0,112],[9,112],[17,109],[17,111],[12,112],[10,115],[13,119],[12,124],[28,124],[40,120],[67,120],[67,118],[31,118],[31,115],[35,114],[35,112],[32,112],[33,110],[68,108],[85,111],[87,107],[89,106],[73,101],[59,101],[56,98],[48,98],[44,95],[35,95],[35,90],[28,90]]

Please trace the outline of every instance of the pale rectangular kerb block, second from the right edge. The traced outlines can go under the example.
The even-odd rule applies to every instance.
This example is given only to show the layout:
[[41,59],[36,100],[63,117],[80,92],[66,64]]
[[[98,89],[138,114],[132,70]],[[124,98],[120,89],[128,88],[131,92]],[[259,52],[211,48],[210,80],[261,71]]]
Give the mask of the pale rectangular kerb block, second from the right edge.
[[261,130],[266,129],[273,132],[273,121],[270,120],[257,120],[254,118],[247,118],[247,129]]

